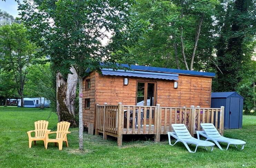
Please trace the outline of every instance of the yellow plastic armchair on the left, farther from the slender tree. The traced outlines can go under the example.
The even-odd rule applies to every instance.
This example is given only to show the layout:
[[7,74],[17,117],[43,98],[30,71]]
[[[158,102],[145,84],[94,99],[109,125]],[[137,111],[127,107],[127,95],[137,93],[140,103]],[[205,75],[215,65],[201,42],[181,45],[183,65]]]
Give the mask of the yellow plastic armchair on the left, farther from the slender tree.
[[[29,148],[31,148],[32,141],[34,141],[34,145],[36,145],[36,141],[43,141],[45,144],[45,134],[50,132],[48,127],[48,121],[39,120],[35,122],[35,130],[28,131],[28,141],[29,141]],[[31,132],[35,132],[35,137],[31,137]]]

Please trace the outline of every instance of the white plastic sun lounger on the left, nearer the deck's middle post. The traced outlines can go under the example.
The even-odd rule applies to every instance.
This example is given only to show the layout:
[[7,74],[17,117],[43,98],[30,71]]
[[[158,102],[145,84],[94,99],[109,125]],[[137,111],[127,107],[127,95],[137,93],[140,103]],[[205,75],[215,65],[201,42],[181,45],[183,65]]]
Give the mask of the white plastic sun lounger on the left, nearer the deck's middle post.
[[[209,142],[209,141],[203,141],[203,140],[198,140],[190,135],[188,132],[187,127],[184,124],[172,124],[174,132],[168,132],[168,138],[169,138],[169,144],[171,146],[174,146],[177,142],[182,142],[185,147],[188,149],[189,152],[195,153],[196,149],[198,146],[203,146],[207,150],[206,146],[211,147],[211,151],[213,151],[214,143]],[[176,142],[174,144],[171,144],[171,136],[174,137]],[[196,149],[195,151],[191,151],[190,148],[188,147],[188,144],[195,144]]]

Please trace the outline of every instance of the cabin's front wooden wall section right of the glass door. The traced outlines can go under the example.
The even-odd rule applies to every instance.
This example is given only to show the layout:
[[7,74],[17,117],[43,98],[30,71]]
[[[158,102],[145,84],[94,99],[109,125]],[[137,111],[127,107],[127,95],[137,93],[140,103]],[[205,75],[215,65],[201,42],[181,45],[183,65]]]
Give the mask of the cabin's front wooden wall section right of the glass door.
[[210,107],[210,77],[179,75],[177,82],[178,88],[174,88],[174,81],[157,82],[157,104],[165,107]]

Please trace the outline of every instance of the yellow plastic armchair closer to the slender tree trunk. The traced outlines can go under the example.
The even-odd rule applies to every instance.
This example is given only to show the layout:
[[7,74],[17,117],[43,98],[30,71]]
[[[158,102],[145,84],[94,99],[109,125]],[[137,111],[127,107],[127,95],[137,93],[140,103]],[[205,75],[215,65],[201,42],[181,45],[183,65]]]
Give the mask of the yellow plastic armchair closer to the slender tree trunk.
[[[68,147],[68,139],[67,134],[70,132],[68,131],[70,123],[67,121],[61,121],[57,124],[57,131],[47,132],[45,135],[45,148],[47,149],[48,142],[55,142],[55,146],[57,143],[59,144],[59,150],[62,150],[62,142],[65,141]],[[49,139],[49,134],[56,133],[56,139]]]

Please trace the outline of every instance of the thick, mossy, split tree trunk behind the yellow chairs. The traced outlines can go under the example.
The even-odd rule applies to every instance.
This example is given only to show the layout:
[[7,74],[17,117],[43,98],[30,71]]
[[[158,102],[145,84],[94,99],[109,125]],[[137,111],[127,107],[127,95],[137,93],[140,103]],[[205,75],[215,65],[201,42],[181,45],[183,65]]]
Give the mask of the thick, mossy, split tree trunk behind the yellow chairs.
[[68,75],[67,81],[63,79],[60,72],[56,74],[57,115],[59,122],[68,121],[71,127],[76,127],[74,103],[77,89],[77,72],[73,67],[70,71],[73,74]]

